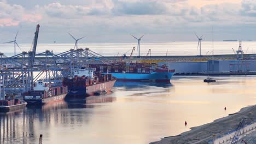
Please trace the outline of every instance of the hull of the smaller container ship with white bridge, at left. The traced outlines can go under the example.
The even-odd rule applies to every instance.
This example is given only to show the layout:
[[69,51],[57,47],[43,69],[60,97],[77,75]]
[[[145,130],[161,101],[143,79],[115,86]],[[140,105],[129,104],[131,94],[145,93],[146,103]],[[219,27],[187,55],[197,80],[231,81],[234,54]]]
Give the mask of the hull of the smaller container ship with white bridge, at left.
[[43,99],[40,98],[40,96],[25,96],[24,100],[27,102],[28,105],[44,105],[54,103],[56,101],[61,101],[66,97],[66,94],[67,93],[63,93],[54,97],[48,97]]

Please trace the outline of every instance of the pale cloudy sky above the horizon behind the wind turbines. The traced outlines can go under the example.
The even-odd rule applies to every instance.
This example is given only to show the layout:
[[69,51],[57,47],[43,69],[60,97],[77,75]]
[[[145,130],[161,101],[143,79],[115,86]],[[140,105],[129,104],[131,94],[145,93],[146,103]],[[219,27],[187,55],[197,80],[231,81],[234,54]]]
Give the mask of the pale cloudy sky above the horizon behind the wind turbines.
[[0,0],[0,42],[42,43],[256,40],[256,0]]

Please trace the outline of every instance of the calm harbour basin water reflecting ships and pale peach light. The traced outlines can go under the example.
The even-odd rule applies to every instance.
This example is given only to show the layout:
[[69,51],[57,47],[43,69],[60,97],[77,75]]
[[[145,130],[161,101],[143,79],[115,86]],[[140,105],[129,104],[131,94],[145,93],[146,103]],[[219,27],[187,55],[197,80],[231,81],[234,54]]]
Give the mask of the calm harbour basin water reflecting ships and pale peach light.
[[[54,103],[0,115],[0,143],[149,143],[254,105],[256,76],[174,76],[171,83],[117,82],[86,104]],[[224,111],[224,107],[227,110]],[[188,125],[185,127],[184,122]]]

